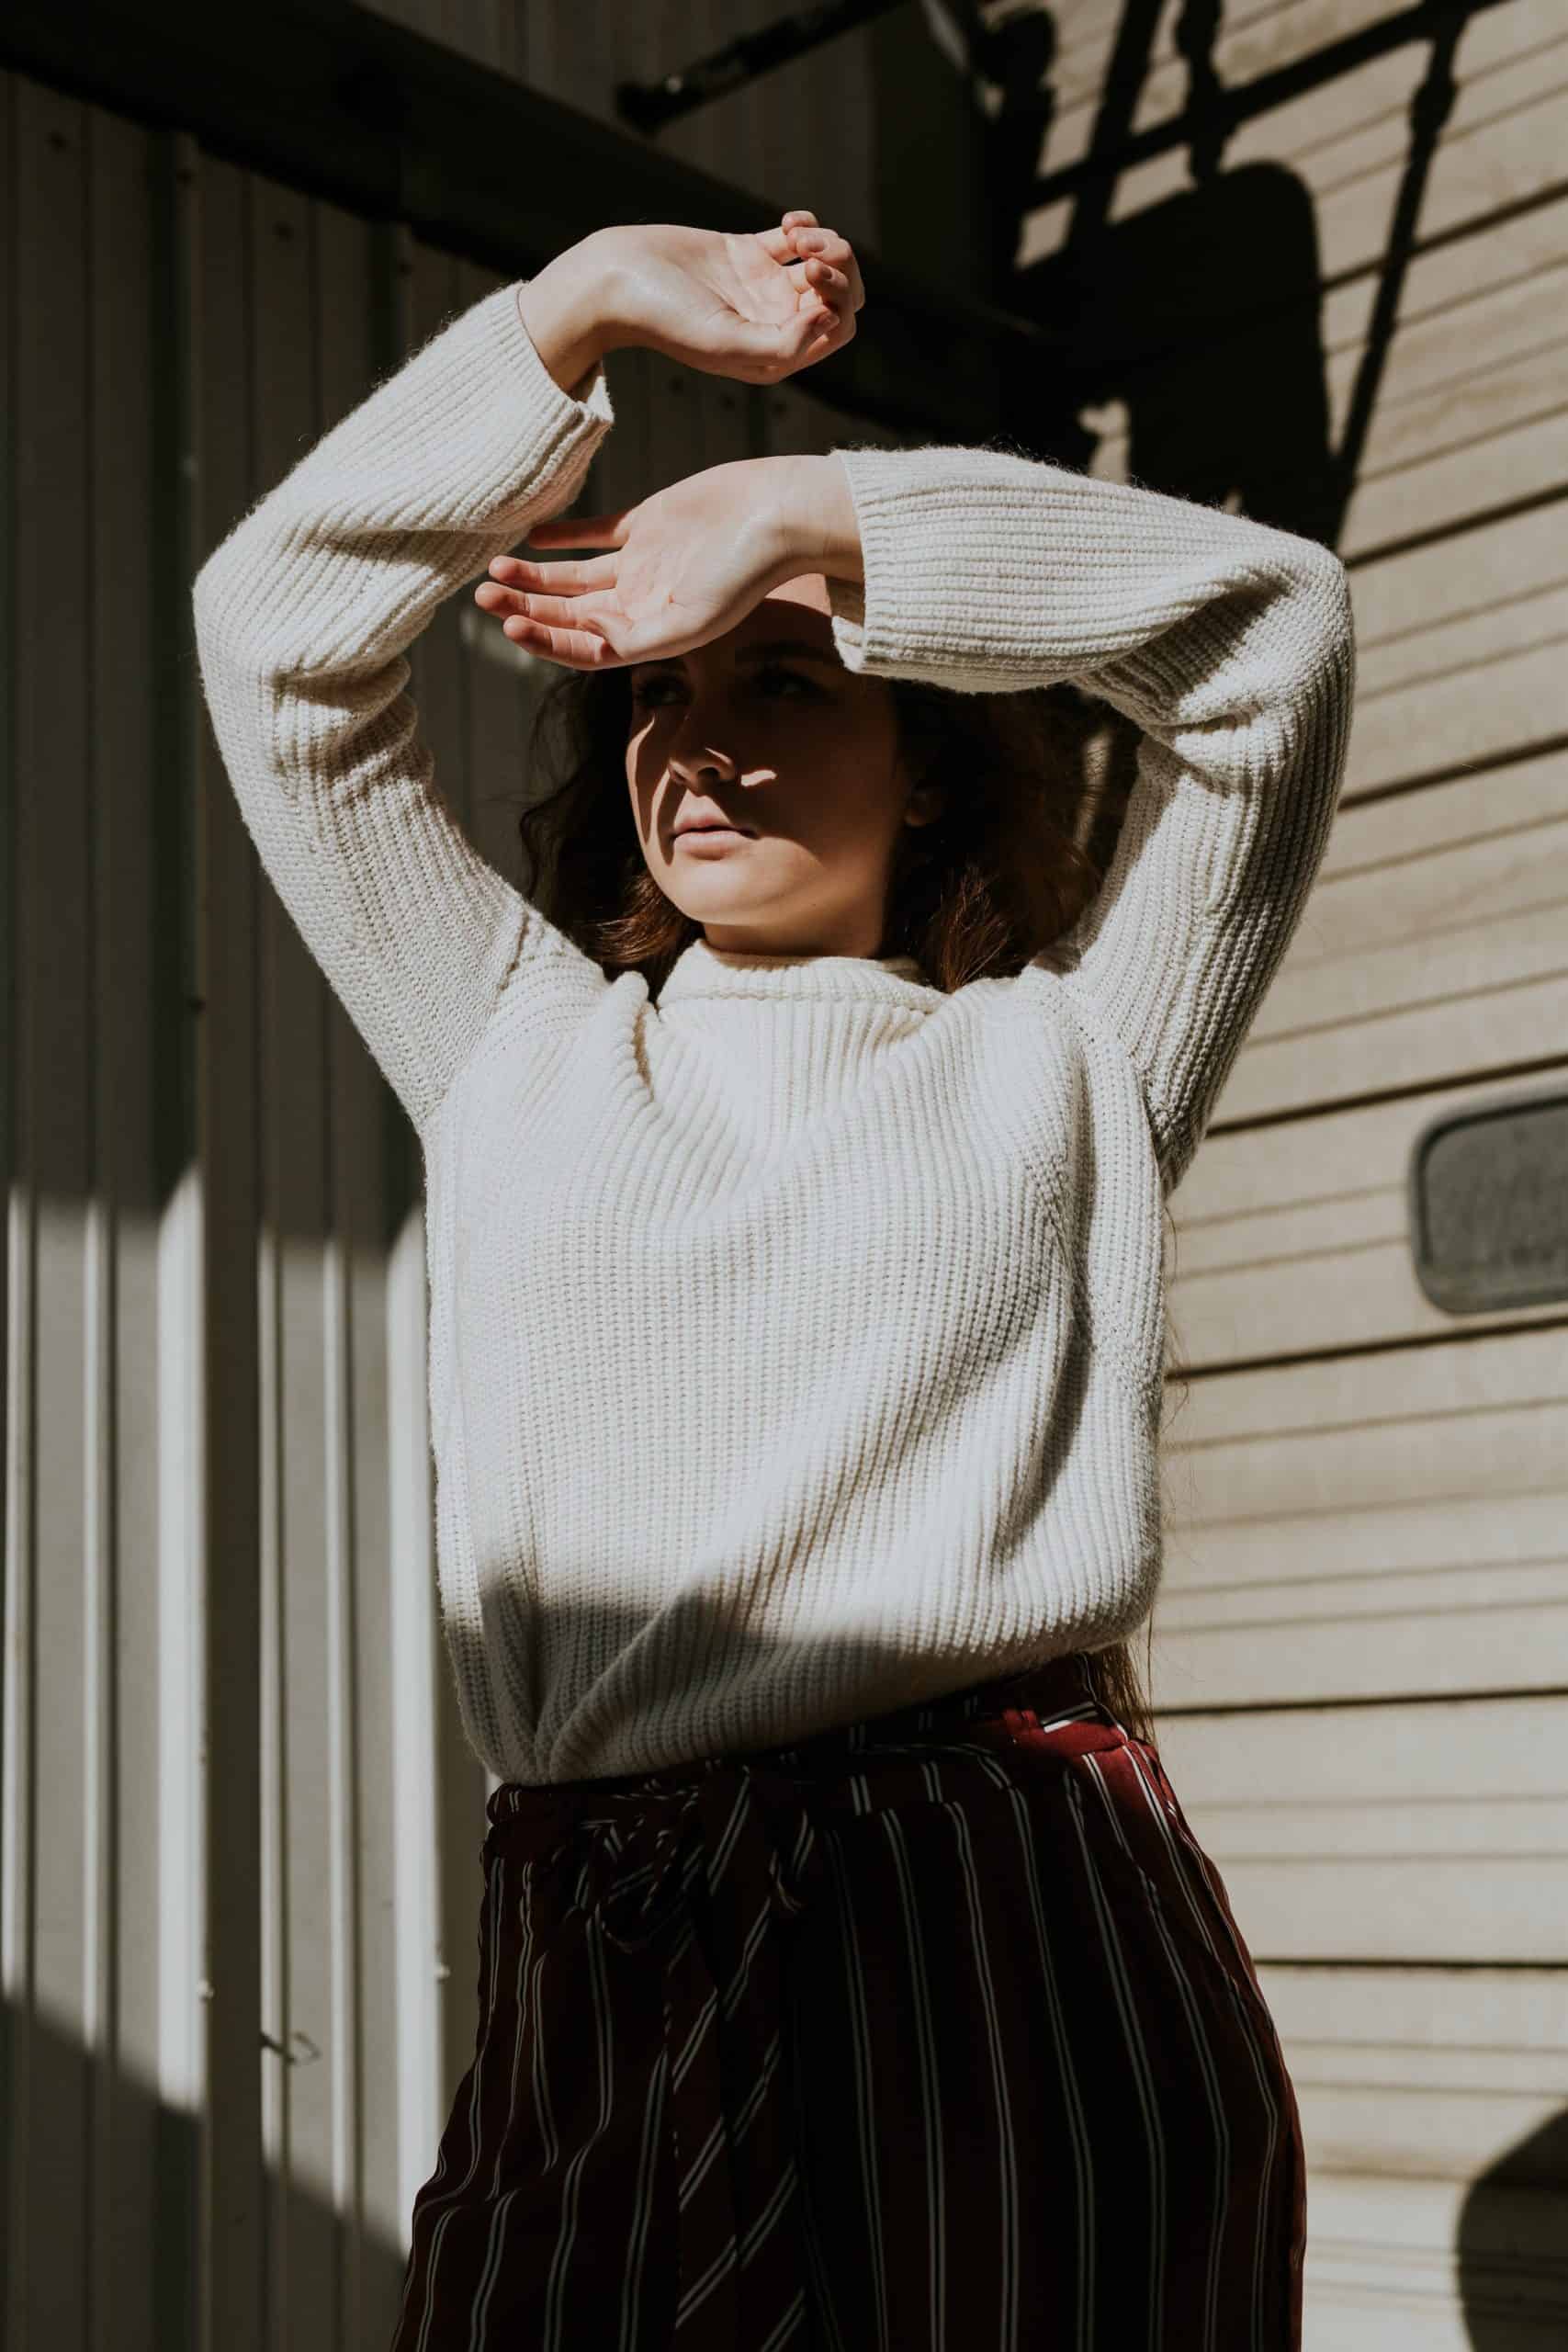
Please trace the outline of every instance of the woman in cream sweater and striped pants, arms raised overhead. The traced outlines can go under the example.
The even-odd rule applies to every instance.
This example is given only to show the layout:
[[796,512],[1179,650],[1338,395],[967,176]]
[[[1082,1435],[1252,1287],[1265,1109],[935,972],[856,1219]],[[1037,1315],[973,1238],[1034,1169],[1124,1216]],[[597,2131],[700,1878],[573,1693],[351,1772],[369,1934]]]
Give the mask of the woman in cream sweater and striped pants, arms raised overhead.
[[[809,212],[602,230],[195,583],[244,818],[423,1145],[442,1616],[501,1783],[395,2352],[1300,2343],[1295,2100],[1126,1637],[1164,1202],[1321,858],[1345,579],[1001,449],[550,522],[607,350],[766,383],[860,303]],[[404,691],[487,567],[585,703],[559,920]],[[1138,729],[1093,891],[1074,689]]]

